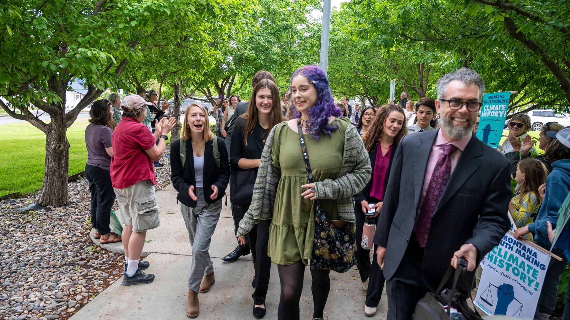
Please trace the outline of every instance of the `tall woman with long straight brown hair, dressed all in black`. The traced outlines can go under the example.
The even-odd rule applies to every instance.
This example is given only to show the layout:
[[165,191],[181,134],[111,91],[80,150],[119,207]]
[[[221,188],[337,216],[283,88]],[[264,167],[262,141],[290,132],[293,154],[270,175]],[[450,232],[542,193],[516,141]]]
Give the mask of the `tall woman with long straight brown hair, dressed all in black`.
[[[247,113],[239,117],[231,134],[231,202],[234,219],[243,218],[251,204],[253,187],[261,153],[270,130],[283,121],[279,89],[271,80],[262,80],[253,89]],[[249,245],[254,261],[253,315],[265,315],[265,297],[271,273],[271,259],[267,256],[269,225],[271,220],[262,220],[251,229]],[[237,226],[237,225],[236,225]],[[237,232],[237,227],[235,229]]]

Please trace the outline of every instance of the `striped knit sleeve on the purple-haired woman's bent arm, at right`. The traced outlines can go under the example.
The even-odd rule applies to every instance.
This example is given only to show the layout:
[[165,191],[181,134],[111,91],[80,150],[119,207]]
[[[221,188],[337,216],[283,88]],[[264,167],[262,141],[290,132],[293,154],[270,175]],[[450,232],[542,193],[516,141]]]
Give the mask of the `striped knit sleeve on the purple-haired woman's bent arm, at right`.
[[348,125],[344,146],[343,166],[352,168],[347,174],[337,179],[326,179],[315,182],[315,194],[317,199],[343,199],[351,197],[364,189],[372,168],[370,158],[364,147],[362,138],[356,131],[355,126]]

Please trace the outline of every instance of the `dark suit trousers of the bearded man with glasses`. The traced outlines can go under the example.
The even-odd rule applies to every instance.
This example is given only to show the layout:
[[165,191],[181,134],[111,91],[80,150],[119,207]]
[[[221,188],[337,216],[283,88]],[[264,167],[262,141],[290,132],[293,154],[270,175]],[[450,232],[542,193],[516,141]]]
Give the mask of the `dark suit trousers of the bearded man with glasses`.
[[416,235],[412,233],[400,266],[398,266],[394,276],[386,283],[386,293],[388,294],[388,316],[386,319],[412,319],[416,304],[428,291],[422,278],[423,260],[424,249],[420,247]]

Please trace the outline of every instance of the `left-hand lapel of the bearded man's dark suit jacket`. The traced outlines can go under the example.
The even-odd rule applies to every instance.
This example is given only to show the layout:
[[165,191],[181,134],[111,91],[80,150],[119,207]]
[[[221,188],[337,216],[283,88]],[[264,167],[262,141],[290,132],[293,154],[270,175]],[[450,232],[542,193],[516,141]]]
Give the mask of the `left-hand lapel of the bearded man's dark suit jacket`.
[[424,187],[424,179],[426,175],[427,161],[431,153],[431,146],[433,146],[435,137],[437,137],[438,130],[431,130],[422,134],[414,134],[410,137],[418,137],[420,145],[416,146],[412,152],[414,159],[414,204],[416,210],[420,205],[420,198],[422,195],[422,188]]

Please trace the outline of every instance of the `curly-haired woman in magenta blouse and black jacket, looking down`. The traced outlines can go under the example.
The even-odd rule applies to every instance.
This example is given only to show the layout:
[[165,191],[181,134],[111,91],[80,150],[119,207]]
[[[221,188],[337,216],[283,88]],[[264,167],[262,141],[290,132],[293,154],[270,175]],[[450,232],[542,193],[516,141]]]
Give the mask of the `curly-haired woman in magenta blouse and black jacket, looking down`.
[[374,204],[371,208],[375,208],[376,213],[369,217],[373,218],[376,223],[377,216],[382,210],[382,200],[384,200],[396,147],[402,137],[408,133],[408,129],[404,126],[405,120],[404,109],[400,106],[395,104],[382,106],[376,112],[370,129],[364,135],[364,146],[370,157],[372,176],[363,191],[356,194],[354,198],[356,202],[356,241],[359,244],[356,251],[356,264],[363,282],[362,288],[367,290],[364,314],[368,317],[376,314],[376,307],[382,297],[382,290],[384,290],[385,278],[376,262],[377,245],[374,245],[372,265],[370,264],[370,250],[360,247],[365,212],[368,211],[369,204]]

